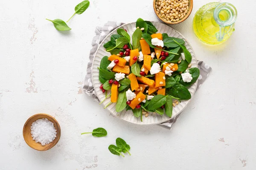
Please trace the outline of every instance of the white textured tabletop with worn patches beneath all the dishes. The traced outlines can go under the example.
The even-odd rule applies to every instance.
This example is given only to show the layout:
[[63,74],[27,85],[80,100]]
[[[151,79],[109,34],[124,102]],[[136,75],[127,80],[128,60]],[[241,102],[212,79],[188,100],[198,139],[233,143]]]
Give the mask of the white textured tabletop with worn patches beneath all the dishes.
[[[157,21],[152,2],[91,0],[70,21],[70,33],[45,20],[67,20],[79,2],[0,1],[0,170],[255,170],[255,1],[228,1],[239,17],[221,46],[204,45],[192,33],[196,10],[212,0],[194,0],[190,17],[173,26],[213,70],[172,131],[116,119],[81,94],[95,27],[138,17]],[[22,136],[26,119],[42,112],[61,125],[60,141],[45,152],[27,146]],[[96,127],[105,127],[108,136],[80,135]],[[130,144],[132,156],[108,151],[117,137]]]

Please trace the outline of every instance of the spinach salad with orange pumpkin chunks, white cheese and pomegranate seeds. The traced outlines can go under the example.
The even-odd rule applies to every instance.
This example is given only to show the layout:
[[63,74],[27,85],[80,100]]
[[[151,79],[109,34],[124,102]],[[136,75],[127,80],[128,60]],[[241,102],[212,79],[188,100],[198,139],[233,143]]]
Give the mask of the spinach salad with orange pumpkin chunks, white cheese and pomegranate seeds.
[[141,18],[131,36],[125,29],[116,31],[103,45],[111,55],[103,57],[98,68],[99,88],[105,99],[111,97],[108,105],[116,103],[116,112],[132,110],[141,121],[147,112],[172,117],[175,105],[191,99],[187,88],[200,75],[198,68],[191,68],[192,56],[184,40],[157,33],[151,22]]

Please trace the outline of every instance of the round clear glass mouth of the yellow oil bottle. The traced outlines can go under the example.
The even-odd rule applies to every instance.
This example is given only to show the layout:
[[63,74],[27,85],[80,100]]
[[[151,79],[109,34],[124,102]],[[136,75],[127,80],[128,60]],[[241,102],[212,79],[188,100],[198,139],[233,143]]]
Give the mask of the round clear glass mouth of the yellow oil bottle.
[[213,17],[219,26],[231,26],[236,22],[237,11],[232,4],[221,3],[215,8]]

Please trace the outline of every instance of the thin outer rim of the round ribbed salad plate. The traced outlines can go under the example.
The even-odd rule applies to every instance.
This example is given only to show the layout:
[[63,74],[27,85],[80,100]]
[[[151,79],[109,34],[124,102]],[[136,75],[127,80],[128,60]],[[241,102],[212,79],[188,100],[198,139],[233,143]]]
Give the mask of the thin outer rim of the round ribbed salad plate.
[[[158,21],[150,21],[150,22],[154,22],[154,23],[163,24],[163,25],[165,25],[165,26],[168,26],[167,24],[160,23],[160,22],[158,22]],[[94,62],[95,62],[96,54],[97,54],[97,52],[99,51],[99,48],[102,46],[103,42],[106,40],[106,38],[107,38],[108,36],[111,36],[111,34],[113,34],[113,32],[116,31],[117,29],[119,29],[119,28],[121,28],[121,27],[123,27],[123,26],[125,26],[125,25],[132,24],[132,23],[136,23],[136,22],[125,23],[125,24],[122,24],[122,23],[121,23],[120,26],[118,26],[118,27],[115,28],[113,31],[111,31],[108,35],[105,36],[105,38],[104,38],[104,39],[102,40],[102,42],[99,44],[99,46],[98,46],[96,52],[95,52],[94,55],[93,55],[92,68],[93,68],[93,65],[94,65]],[[168,27],[172,28],[171,26],[168,26]],[[175,30],[175,31],[177,31],[175,28],[172,28],[172,29]],[[183,36],[183,34],[180,33],[180,31],[177,31],[177,33],[178,33],[181,37],[183,37],[183,38],[186,40],[186,38]],[[197,68],[198,68],[198,60],[196,59],[195,51],[193,50],[192,46],[190,45],[190,43],[189,43],[187,40],[186,40],[186,42],[187,42],[188,45],[191,47],[191,50],[192,50],[192,52],[194,53],[196,65],[197,65]],[[95,89],[95,85],[94,85],[94,81],[95,81],[95,80],[94,80],[94,78],[93,78],[93,69],[92,69],[92,72],[91,72],[91,79],[92,79],[92,82],[93,82],[93,83],[92,83],[92,84],[93,84],[93,89]],[[184,111],[184,109],[187,107],[187,105],[191,102],[191,100],[192,100],[192,99],[194,98],[194,96],[195,96],[195,92],[196,92],[197,86],[198,86],[198,79],[197,79],[197,81],[196,81],[194,84],[195,84],[195,90],[194,90],[194,93],[192,94],[191,99],[188,100],[188,103],[187,103],[175,116],[172,116],[172,117],[170,117],[169,119],[166,119],[166,120],[161,121],[161,122],[151,123],[151,124],[137,124],[137,123],[134,123],[134,122],[129,122],[129,121],[127,121],[127,120],[121,119],[119,116],[116,116],[116,115],[113,114],[111,111],[109,111],[109,110],[108,110],[108,111],[109,111],[114,117],[117,117],[117,118],[119,118],[119,119],[121,119],[121,120],[123,120],[123,121],[125,121],[125,122],[131,123],[131,124],[133,124],[133,125],[141,125],[141,126],[160,125],[161,123],[167,122],[167,121],[169,121],[169,120],[171,120],[171,119],[175,119],[176,116],[179,116],[180,113],[182,113],[182,111]],[[96,96],[97,96],[97,95],[96,95]],[[99,99],[99,96],[97,96],[97,98]],[[99,102],[102,102],[102,101],[99,99]],[[105,106],[105,104],[104,104],[103,102],[102,102],[102,105]]]

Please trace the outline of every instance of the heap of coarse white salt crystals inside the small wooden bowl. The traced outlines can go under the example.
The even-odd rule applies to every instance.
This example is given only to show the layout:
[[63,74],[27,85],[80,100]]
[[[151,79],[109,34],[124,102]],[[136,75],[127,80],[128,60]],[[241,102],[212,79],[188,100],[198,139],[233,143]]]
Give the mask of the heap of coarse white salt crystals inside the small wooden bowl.
[[33,140],[41,143],[42,146],[51,143],[56,138],[57,130],[47,118],[37,119],[30,129]]

